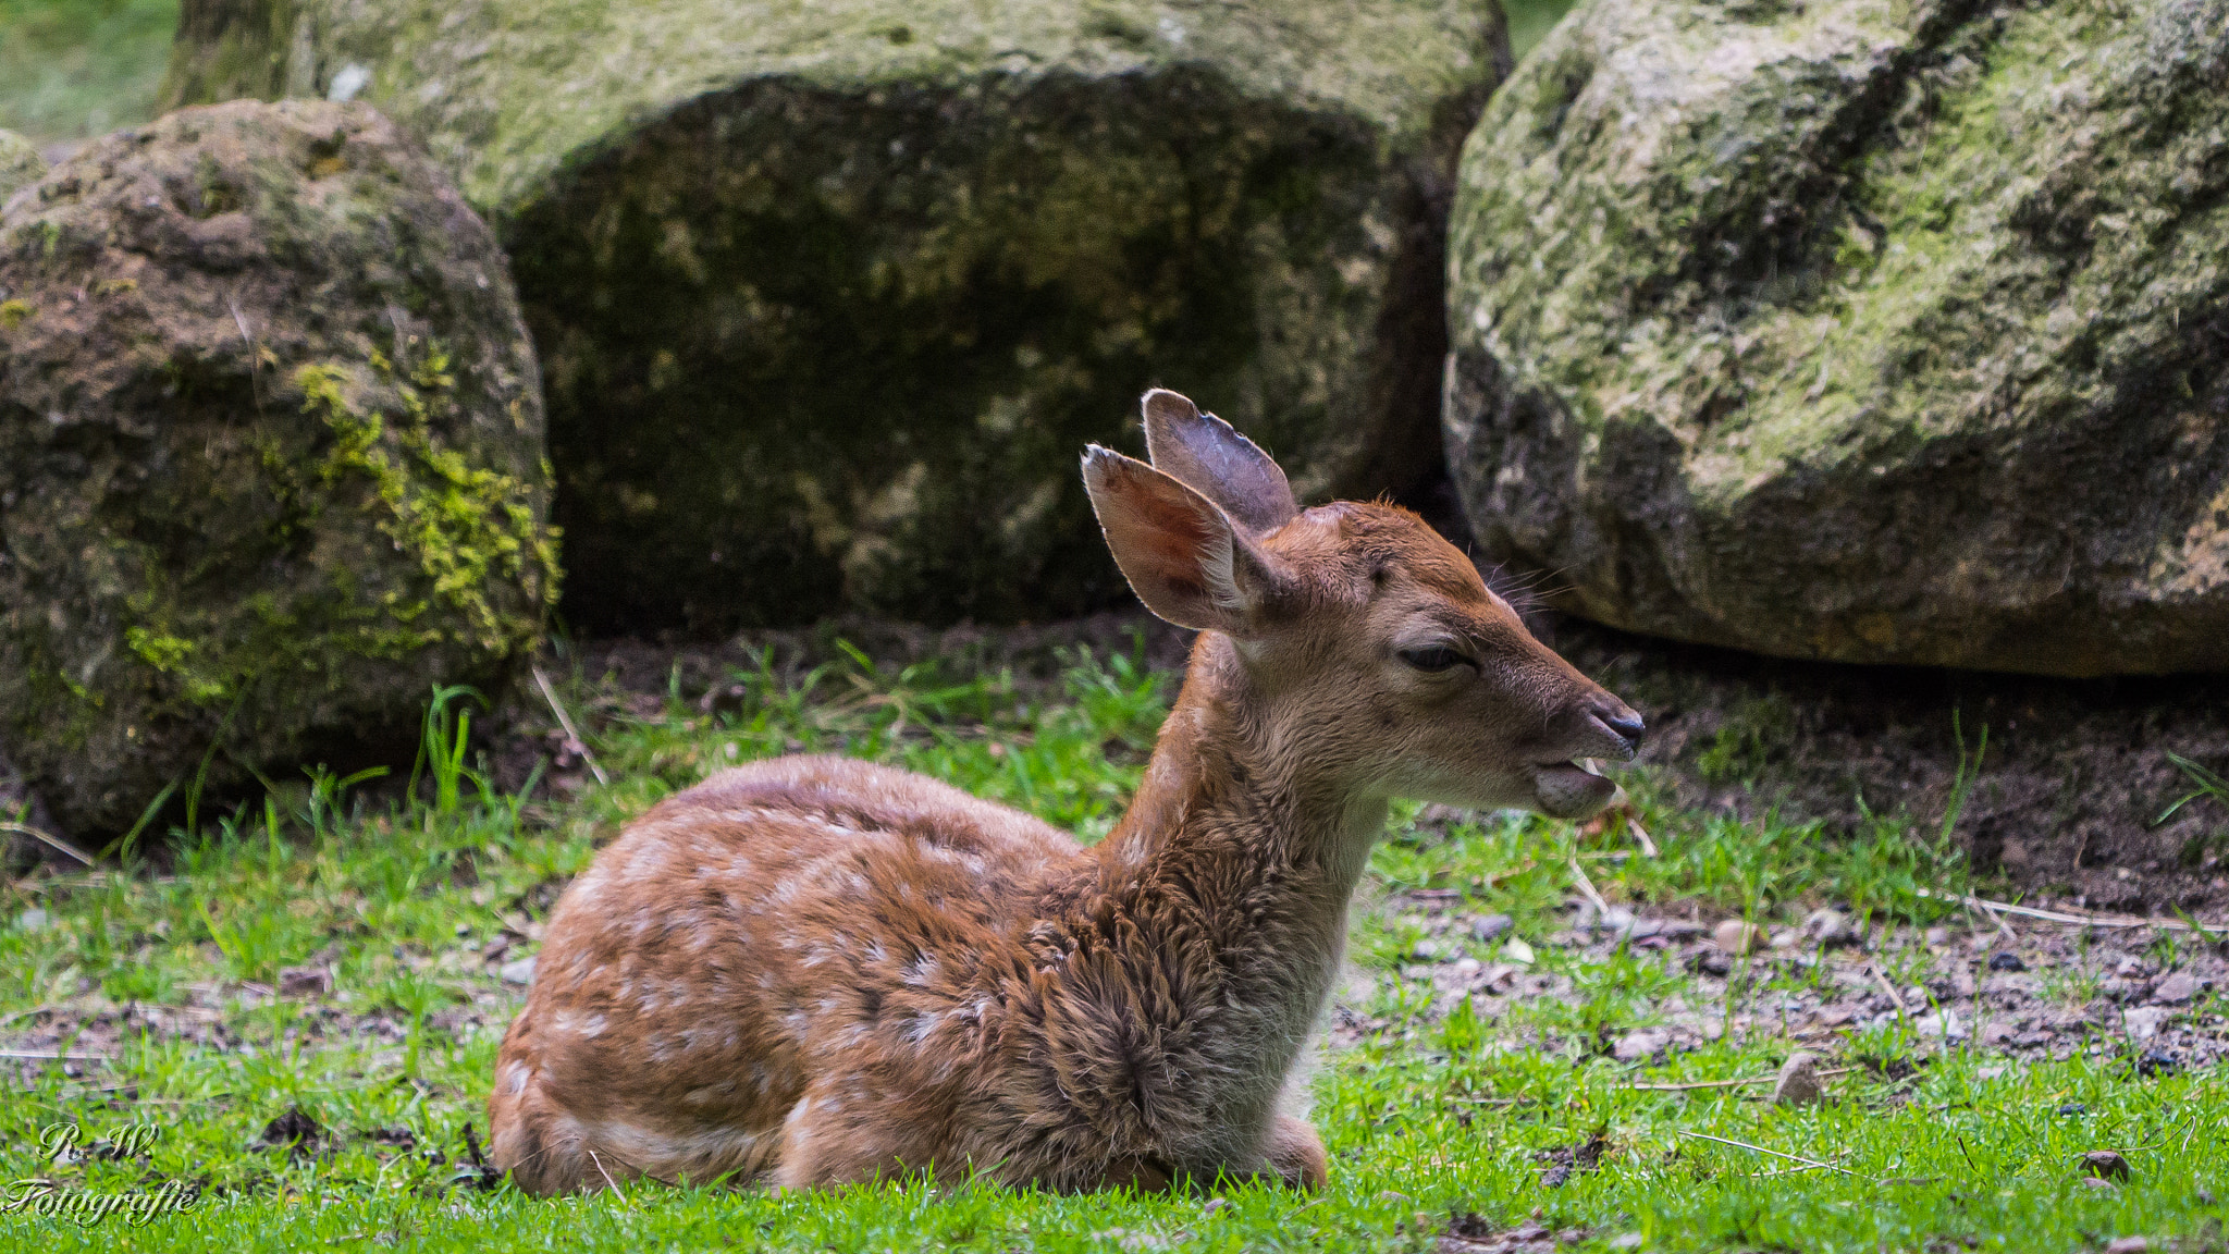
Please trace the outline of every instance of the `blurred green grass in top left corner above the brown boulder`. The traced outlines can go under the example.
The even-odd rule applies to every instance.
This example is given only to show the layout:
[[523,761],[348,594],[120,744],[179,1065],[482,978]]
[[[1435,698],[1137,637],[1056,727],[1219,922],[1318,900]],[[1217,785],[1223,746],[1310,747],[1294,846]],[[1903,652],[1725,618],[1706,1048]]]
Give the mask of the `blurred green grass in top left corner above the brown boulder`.
[[0,129],[87,138],[154,116],[178,0],[0,0]]

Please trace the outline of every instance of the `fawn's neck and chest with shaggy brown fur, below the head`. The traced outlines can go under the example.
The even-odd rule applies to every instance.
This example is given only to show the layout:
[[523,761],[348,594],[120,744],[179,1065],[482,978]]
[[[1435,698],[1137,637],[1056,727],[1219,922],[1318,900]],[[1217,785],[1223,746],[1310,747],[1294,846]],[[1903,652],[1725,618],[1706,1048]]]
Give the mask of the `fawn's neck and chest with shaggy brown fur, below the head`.
[[[1282,732],[1235,647],[1201,636],[1137,801],[1094,850],[1094,906],[1135,928],[1135,986],[1175,1002],[1181,1058],[1148,1118],[1164,1145],[1259,1129],[1315,1029],[1346,944],[1346,901],[1384,826],[1384,799],[1313,761],[1308,727]],[[1168,1031],[1172,1029],[1172,1031]],[[1146,1060],[1139,1060],[1146,1062]],[[1221,1129],[1221,1131],[1217,1131]],[[1204,1160],[1244,1147],[1199,1142]]]

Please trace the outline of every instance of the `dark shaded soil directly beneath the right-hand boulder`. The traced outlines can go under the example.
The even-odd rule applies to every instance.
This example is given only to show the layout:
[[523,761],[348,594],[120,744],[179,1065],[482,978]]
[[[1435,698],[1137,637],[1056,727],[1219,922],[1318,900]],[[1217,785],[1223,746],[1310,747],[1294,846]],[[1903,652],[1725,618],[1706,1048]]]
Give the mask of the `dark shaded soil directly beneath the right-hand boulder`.
[[[1984,875],[2077,908],[2229,908],[2229,676],[2044,678],[1763,658],[1538,618],[1649,723],[1641,761],[1690,808],[1939,821]],[[1986,750],[1984,750],[1986,734]]]

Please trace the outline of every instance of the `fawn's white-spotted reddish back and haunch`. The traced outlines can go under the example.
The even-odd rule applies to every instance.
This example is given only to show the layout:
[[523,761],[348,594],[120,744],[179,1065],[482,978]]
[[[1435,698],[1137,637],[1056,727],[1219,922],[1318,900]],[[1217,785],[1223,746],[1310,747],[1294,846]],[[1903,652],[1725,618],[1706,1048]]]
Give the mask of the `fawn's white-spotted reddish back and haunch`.
[[526,1127],[653,1176],[753,1171],[829,1058],[950,1069],[981,986],[965,966],[1021,953],[1019,915],[1079,859],[1059,828],[903,770],[720,772],[559,899],[495,1100],[564,1111]]

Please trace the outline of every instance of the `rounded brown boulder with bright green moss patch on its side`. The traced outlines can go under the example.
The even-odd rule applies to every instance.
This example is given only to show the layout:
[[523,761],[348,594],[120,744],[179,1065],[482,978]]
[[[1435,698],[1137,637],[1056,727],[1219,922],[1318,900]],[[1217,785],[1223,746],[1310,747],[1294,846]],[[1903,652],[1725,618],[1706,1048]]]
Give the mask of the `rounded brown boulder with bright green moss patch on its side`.
[[0,219],[0,743],[65,828],[408,763],[535,645],[548,491],[495,237],[370,107],[183,109]]

